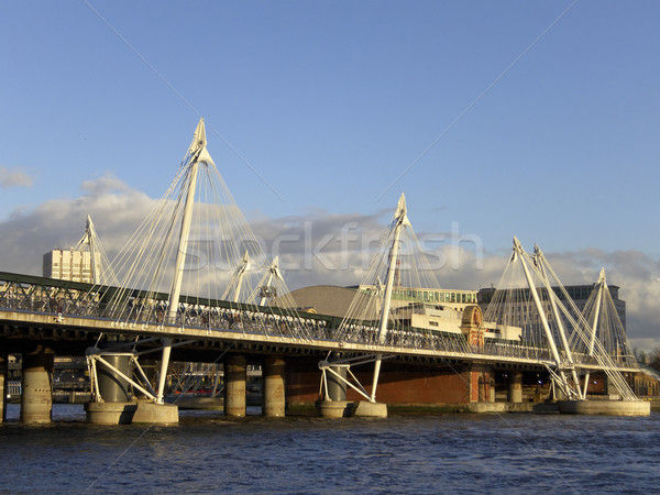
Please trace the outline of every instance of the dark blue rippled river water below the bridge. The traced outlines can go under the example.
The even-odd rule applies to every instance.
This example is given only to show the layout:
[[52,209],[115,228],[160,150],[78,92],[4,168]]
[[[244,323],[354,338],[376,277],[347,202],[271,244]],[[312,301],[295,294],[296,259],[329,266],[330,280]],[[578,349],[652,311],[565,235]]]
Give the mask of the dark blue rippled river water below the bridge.
[[660,413],[647,418],[420,415],[387,419],[182,411],[180,424],[0,425],[0,492],[652,493]]

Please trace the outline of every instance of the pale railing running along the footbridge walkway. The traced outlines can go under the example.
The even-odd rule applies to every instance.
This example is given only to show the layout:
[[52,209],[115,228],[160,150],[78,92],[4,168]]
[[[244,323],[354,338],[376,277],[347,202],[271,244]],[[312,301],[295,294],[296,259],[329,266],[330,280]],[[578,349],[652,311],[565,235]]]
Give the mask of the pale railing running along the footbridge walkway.
[[[51,314],[55,317],[82,316],[109,319],[133,324],[173,324],[213,330],[233,331],[237,333],[256,333],[282,337],[306,337],[310,340],[336,341],[336,329],[331,328],[328,319],[319,316],[309,318],[282,314],[268,314],[250,309],[232,309],[227,307],[207,307],[197,305],[190,308],[182,305],[174,321],[167,322],[165,307],[156,307],[153,311],[138,311],[139,302],[118,309],[98,301],[98,297],[87,294],[82,297],[75,289],[62,292],[53,287],[22,287],[21,290],[4,290],[0,293],[0,307],[3,309]],[[110,315],[112,316],[110,318]],[[148,318],[135,318],[136,316]],[[389,329],[385,341],[378,342],[373,327],[358,326],[352,329],[346,341],[361,344],[378,344],[391,346],[393,350],[431,350],[438,353],[492,355],[503,359],[526,359],[543,361],[550,358],[548,349],[526,345],[524,343],[486,339],[482,345],[471,345],[465,336],[450,332],[419,331],[410,328]]]

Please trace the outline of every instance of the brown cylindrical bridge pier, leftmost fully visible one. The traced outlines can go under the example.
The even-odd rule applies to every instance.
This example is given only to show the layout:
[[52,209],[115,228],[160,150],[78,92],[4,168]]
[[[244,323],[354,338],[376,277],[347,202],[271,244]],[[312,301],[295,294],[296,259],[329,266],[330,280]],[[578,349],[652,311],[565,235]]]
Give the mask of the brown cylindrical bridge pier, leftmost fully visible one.
[[21,422],[48,424],[53,417],[53,362],[52,350],[38,345],[34,352],[23,354],[23,383],[21,394]]

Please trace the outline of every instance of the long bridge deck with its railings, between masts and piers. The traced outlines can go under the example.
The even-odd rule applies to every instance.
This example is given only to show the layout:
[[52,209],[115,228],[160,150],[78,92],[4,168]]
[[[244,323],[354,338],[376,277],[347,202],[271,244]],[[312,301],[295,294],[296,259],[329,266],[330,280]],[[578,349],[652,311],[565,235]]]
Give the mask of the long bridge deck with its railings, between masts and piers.
[[[133,321],[130,315],[107,318],[100,300],[117,290],[117,287],[0,272],[0,328],[6,338],[11,337],[11,328],[28,329],[22,334],[23,338],[33,336],[34,329],[48,329],[59,334],[84,332],[88,340],[105,333],[125,338],[173,338],[179,343],[229,342],[276,346],[292,353],[322,354],[340,351],[344,354],[378,353],[433,361],[461,360],[536,366],[554,364],[547,348],[497,339],[485,339],[482,345],[471,345],[460,333],[392,329],[386,342],[378,343],[367,329],[339,341],[333,339],[334,329],[341,322],[339,318],[310,314],[292,318],[290,314],[280,308],[223,300],[182,297],[183,311],[177,316],[176,324],[163,323],[162,314],[152,314],[152,318],[158,321]],[[133,308],[167,300],[166,294],[147,296],[140,290],[131,290],[127,297],[134,302]],[[231,315],[241,315],[242,319],[234,320]],[[36,339],[37,336],[34,334],[34,340]],[[604,370],[593,358],[573,358],[578,362],[576,366],[585,371]],[[624,363],[617,365],[620,372],[638,371]]]

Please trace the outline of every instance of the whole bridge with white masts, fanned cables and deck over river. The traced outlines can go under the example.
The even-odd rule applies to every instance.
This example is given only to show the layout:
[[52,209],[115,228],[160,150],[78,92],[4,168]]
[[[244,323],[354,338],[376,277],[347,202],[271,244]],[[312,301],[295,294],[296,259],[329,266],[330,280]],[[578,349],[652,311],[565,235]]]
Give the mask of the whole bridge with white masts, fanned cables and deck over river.
[[[89,249],[100,249],[90,220],[85,239]],[[91,260],[97,257],[92,251]],[[402,195],[346,316],[298,311],[277,261],[267,261],[220,177],[200,120],[173,185],[114,260],[112,271],[95,267],[95,284],[0,273],[0,342],[12,352],[34,354],[36,369],[44,360],[36,344],[86,354],[101,409],[113,402],[103,397],[102,388],[106,396],[117,396],[117,385],[103,385],[98,367],[111,381],[130,383],[154,406],[165,407],[172,353],[179,361],[202,362],[268,356],[265,384],[276,383],[272,388],[282,389],[266,397],[275,404],[273,416],[284,414],[283,360],[301,356],[318,363],[326,403],[343,404],[348,387],[367,405],[377,405],[384,362],[468,366],[468,375],[481,374],[479,380],[485,380],[483,370],[488,366],[512,370],[515,391],[521,385],[520,370],[543,370],[557,395],[578,402],[587,398],[590,374],[601,373],[624,400],[635,402],[624,374],[638,367],[623,326],[613,316],[604,272],[583,312],[562,292],[542,252],[537,248],[529,256],[515,239],[485,314],[470,306],[459,324],[447,329],[432,314],[440,306],[397,305],[393,298],[402,287],[439,287],[427,265]],[[112,284],[101,284],[102,278]],[[139,364],[139,358],[150,353],[161,362],[157,386]],[[370,363],[371,387],[351,371]],[[244,359],[234,360],[229,366],[238,366],[238,374],[226,373],[239,376],[227,384],[226,404],[226,410],[239,416],[244,414]],[[131,366],[138,371],[129,372]],[[513,396],[519,399],[519,393]],[[382,415],[378,408],[366,410]]]

